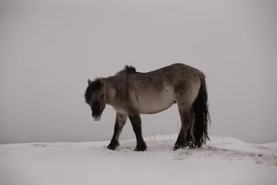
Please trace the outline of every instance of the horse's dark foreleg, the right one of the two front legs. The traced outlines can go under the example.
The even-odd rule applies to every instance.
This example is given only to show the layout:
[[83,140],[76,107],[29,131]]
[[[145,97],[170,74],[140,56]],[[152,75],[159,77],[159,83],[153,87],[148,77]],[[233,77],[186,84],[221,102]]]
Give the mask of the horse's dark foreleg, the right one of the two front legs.
[[131,121],[134,133],[136,134],[136,148],[134,151],[145,151],[147,146],[143,140],[141,132],[141,117],[139,115],[129,116],[129,120]]

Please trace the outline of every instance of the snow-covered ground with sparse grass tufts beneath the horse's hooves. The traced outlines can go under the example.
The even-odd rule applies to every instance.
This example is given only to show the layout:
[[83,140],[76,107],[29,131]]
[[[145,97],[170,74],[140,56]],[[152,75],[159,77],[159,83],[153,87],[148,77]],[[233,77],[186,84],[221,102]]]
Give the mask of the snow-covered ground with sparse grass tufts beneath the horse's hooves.
[[201,149],[172,151],[177,135],[135,140],[0,145],[1,185],[277,184],[277,143],[211,136]]

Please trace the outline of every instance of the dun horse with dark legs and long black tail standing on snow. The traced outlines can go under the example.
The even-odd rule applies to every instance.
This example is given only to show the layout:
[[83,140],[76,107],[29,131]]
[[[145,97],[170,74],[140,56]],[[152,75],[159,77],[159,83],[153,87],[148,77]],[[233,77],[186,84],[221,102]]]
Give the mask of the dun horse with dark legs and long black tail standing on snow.
[[132,65],[112,76],[87,80],[84,91],[85,103],[91,108],[94,121],[99,121],[106,105],[116,111],[114,134],[107,148],[116,150],[118,138],[129,118],[136,148],[145,151],[148,146],[143,140],[141,114],[157,114],[175,103],[181,118],[181,128],[173,150],[179,148],[202,148],[208,137],[211,124],[208,109],[206,75],[187,64],[173,63],[148,72],[138,72]]

